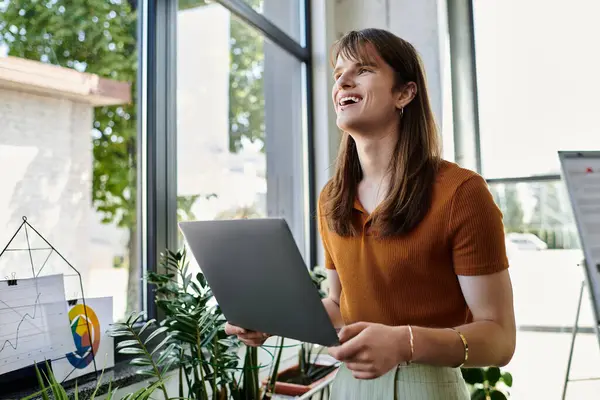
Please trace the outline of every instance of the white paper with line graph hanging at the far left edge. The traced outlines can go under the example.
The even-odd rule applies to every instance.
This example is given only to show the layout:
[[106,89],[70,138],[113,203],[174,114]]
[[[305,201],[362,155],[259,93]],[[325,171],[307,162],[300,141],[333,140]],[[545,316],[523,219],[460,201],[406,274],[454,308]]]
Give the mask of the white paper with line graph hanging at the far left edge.
[[74,350],[62,275],[0,282],[0,374]]

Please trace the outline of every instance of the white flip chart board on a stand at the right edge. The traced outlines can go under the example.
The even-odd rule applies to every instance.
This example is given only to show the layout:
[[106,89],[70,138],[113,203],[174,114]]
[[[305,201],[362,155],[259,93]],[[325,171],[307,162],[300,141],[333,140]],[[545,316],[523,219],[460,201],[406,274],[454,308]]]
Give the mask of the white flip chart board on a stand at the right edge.
[[600,151],[559,151],[563,180],[585,256],[588,290],[600,325]]

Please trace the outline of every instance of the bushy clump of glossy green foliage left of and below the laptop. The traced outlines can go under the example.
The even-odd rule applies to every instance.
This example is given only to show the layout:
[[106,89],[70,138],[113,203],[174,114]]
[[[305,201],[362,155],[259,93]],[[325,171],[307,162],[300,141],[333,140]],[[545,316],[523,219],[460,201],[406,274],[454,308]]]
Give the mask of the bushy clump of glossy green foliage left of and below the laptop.
[[[127,336],[117,346],[122,354],[138,356],[132,365],[138,373],[164,382],[169,370],[176,371],[178,398],[214,400],[250,400],[260,398],[257,350],[248,348],[239,368],[241,342],[225,334],[225,318],[214,301],[202,273],[189,271],[186,250],[167,250],[161,259],[160,272],[148,274],[154,286],[156,304],[164,314],[157,325],[148,321],[139,331],[134,325],[141,317],[130,317],[115,324],[112,336]],[[143,334],[152,332],[144,340]],[[155,340],[160,337],[159,340]],[[156,342],[150,347],[151,342]],[[163,384],[158,388],[167,400]]]

